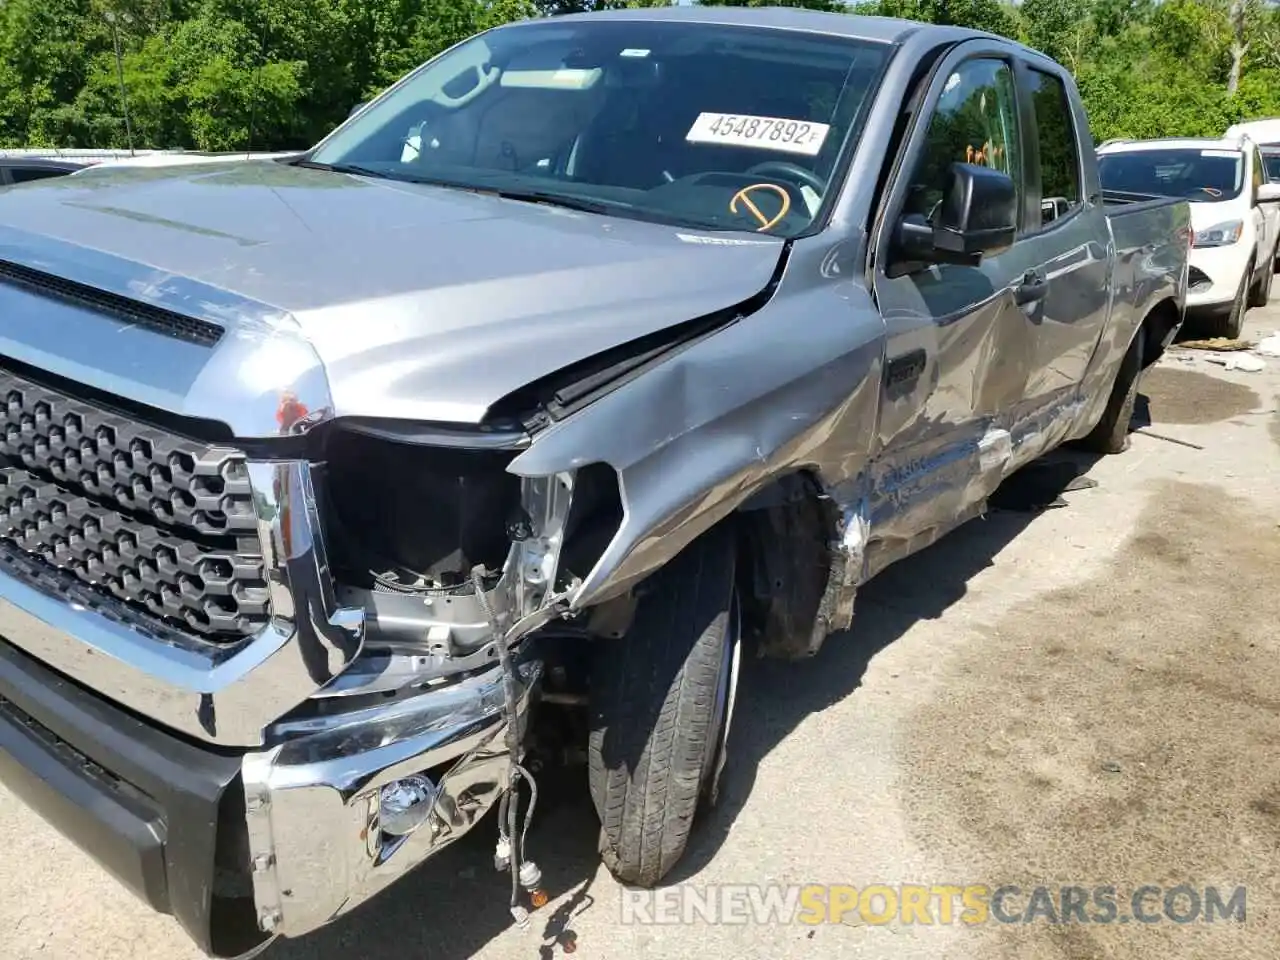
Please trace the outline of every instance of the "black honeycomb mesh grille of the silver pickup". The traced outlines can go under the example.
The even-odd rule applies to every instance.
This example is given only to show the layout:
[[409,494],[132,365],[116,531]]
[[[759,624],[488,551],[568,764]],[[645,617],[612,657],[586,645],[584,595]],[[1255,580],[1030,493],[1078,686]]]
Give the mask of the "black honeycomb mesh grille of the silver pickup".
[[3,369],[0,404],[0,541],[142,622],[220,644],[266,626],[265,561],[239,452]]

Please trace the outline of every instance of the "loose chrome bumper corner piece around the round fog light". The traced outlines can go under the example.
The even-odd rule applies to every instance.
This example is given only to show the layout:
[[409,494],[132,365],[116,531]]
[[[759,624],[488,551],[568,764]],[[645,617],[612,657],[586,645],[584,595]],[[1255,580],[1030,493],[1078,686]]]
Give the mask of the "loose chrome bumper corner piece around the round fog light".
[[[520,672],[520,726],[541,663]],[[244,756],[246,822],[259,924],[297,937],[329,923],[466,833],[507,787],[498,669],[366,710],[284,723],[279,746]],[[451,764],[428,820],[378,829],[393,780]],[[434,777],[433,777],[434,778]]]

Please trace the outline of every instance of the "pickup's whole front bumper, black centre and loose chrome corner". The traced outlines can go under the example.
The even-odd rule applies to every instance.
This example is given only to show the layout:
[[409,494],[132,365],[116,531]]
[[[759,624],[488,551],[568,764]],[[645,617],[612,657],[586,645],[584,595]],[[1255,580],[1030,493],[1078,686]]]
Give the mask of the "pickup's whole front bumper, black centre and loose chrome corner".
[[[278,726],[268,750],[196,745],[3,639],[0,783],[215,956],[300,936],[462,836],[507,786],[497,669],[398,703]],[[520,726],[540,662],[517,663]],[[522,732],[522,731],[517,731]],[[378,829],[379,788],[430,771],[431,815]]]

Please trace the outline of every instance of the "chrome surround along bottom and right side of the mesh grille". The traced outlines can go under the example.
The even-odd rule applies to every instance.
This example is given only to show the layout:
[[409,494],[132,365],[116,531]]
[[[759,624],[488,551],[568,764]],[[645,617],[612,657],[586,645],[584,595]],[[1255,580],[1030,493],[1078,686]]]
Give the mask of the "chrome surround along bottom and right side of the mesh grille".
[[[259,746],[279,717],[360,654],[364,611],[339,608],[310,465],[250,462],[273,617],[230,648],[109,618],[0,547],[0,637],[102,696],[200,740]],[[47,572],[46,572],[47,571]]]

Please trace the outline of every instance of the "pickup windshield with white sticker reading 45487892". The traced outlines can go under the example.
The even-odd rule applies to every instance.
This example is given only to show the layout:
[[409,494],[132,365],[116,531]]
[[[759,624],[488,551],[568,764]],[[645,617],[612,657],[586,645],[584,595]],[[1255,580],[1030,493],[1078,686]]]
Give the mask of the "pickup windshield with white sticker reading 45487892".
[[837,186],[890,52],[705,23],[512,24],[428,63],[303,163],[790,237]]

